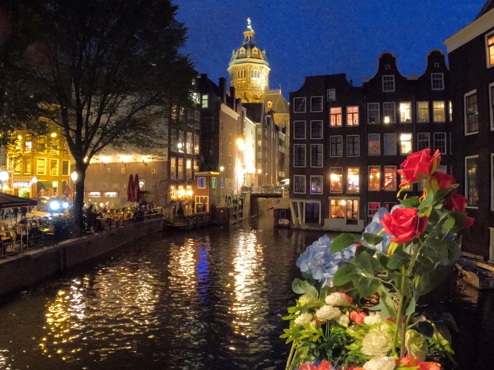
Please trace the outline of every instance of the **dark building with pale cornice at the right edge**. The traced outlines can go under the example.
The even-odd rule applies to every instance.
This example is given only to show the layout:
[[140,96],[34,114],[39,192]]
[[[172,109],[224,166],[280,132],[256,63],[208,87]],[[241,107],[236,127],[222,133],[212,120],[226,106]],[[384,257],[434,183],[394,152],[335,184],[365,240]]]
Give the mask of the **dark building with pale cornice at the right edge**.
[[494,260],[494,2],[445,40],[453,99],[454,176],[475,218],[462,248]]

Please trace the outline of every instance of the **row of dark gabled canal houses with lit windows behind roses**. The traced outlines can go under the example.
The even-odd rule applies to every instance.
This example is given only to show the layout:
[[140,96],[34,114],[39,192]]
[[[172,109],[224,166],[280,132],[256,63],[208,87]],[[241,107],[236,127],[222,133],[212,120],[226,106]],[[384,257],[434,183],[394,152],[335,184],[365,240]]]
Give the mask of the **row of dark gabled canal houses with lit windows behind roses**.
[[345,74],[309,76],[290,93],[294,227],[361,231],[396,204],[397,169],[413,151],[439,149],[440,170],[451,173],[449,71],[439,50],[427,62],[421,76],[405,77],[384,52],[361,87]]

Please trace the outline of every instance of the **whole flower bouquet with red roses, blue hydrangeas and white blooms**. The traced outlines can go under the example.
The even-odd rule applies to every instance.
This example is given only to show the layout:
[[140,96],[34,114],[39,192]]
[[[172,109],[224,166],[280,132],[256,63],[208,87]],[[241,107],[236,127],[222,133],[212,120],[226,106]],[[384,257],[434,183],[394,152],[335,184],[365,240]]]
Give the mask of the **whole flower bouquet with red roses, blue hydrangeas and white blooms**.
[[[327,235],[297,259],[296,305],[288,308],[287,370],[437,370],[453,361],[451,315],[435,321],[418,298],[450,275],[461,230],[472,224],[452,176],[436,171],[430,149],[410,154],[398,173],[400,203],[381,208],[362,235]],[[421,183],[421,196],[400,193]]]

